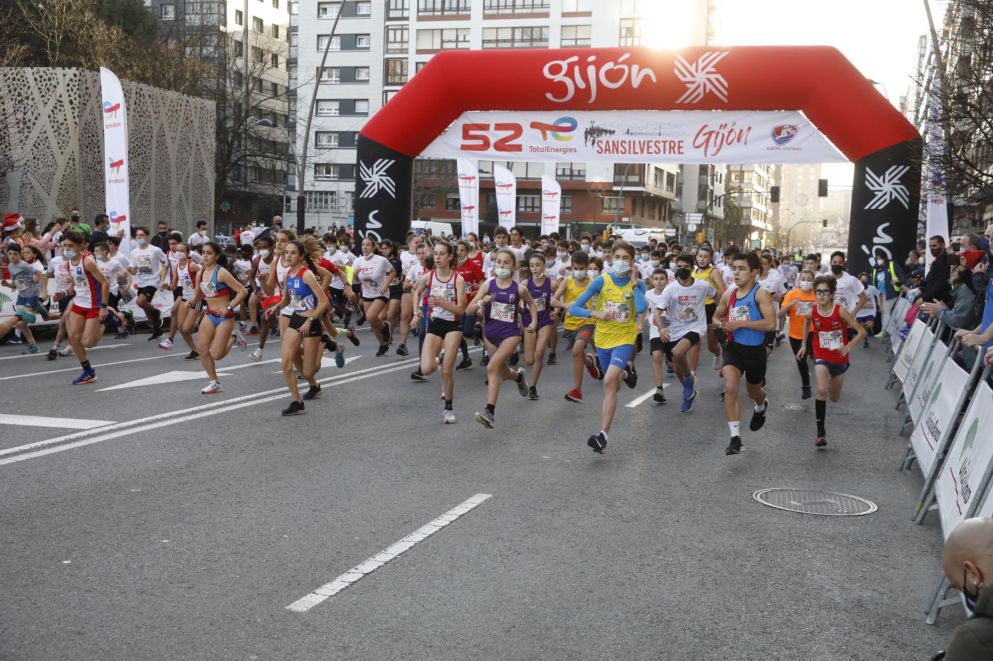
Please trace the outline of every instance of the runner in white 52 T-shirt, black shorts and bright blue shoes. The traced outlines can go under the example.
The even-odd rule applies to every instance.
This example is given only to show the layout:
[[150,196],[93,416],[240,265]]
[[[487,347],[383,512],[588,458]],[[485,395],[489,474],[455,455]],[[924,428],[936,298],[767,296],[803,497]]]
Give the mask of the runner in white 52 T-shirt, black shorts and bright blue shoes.
[[[683,386],[680,408],[683,413],[693,409],[693,402],[700,394],[688,356],[707,333],[707,299],[717,294],[709,274],[706,278],[693,276],[696,263],[696,258],[687,252],[676,257],[676,279],[662,291],[655,313],[662,351],[672,356],[670,362]],[[662,322],[662,310],[668,313],[668,324]]]

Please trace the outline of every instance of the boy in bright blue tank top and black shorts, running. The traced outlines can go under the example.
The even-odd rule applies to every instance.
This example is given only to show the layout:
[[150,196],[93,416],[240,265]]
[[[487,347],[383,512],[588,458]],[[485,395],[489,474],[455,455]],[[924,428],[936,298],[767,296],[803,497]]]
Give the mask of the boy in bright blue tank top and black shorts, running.
[[726,333],[721,376],[724,377],[724,411],[728,416],[731,441],[725,455],[737,455],[743,450],[741,437],[741,406],[738,385],[745,376],[745,387],[755,400],[755,413],[749,429],[758,432],[766,424],[769,399],[766,382],[768,333],[776,328],[773,295],[756,282],[762,273],[762,261],[755,253],[738,253],[731,258],[735,269],[735,287],[721,297],[714,312],[717,328]]

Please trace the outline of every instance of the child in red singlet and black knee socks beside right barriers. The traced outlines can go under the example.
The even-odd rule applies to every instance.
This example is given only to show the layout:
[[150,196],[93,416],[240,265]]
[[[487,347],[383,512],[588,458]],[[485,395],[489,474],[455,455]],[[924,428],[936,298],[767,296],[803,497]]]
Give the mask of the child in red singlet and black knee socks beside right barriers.
[[[834,266],[834,255],[831,255],[831,265]],[[833,270],[833,269],[832,269]],[[796,359],[802,360],[807,351],[806,331],[813,335],[813,372],[817,379],[817,399],[814,400],[814,414],[817,420],[817,438],[814,446],[823,448],[827,445],[827,431],[824,419],[827,417],[827,396],[837,402],[841,398],[841,388],[845,384],[845,372],[848,371],[848,354],[852,346],[866,335],[865,329],[855,321],[848,310],[834,301],[837,283],[832,276],[818,276],[813,281],[813,294],[817,297],[817,305],[803,319],[803,343],[796,352]],[[849,332],[846,333],[846,328]],[[845,342],[846,334],[855,331]]]

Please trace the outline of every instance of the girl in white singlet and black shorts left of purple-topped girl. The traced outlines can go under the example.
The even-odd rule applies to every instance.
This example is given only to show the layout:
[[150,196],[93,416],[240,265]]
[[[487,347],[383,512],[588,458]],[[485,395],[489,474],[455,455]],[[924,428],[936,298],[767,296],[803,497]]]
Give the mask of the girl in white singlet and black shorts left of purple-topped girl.
[[[445,424],[455,423],[452,400],[455,397],[455,358],[462,341],[461,316],[466,313],[465,281],[452,269],[455,251],[448,241],[439,241],[434,247],[435,268],[421,277],[414,288],[414,298],[421,292],[428,297],[427,332],[421,349],[421,366],[416,373],[429,376],[439,364],[442,368],[442,387],[445,399]],[[419,318],[421,311],[417,311]],[[371,318],[369,318],[371,319]],[[419,323],[411,321],[411,325]],[[442,360],[438,353],[445,351]]]

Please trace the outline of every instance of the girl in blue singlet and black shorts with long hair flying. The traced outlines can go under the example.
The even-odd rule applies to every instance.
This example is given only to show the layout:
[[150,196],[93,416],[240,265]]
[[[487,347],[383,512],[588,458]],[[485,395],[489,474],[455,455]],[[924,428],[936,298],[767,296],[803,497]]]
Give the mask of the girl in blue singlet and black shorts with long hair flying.
[[[320,255],[320,249],[315,252]],[[317,264],[304,242],[296,239],[289,241],[283,249],[283,259],[289,267],[282,286],[283,298],[278,304],[266,310],[265,314],[271,317],[278,311],[283,311],[282,317],[286,318],[285,330],[282,334],[283,378],[290,389],[293,401],[283,409],[282,414],[295,416],[305,412],[303,400],[314,399],[321,395],[321,385],[314,379],[314,374],[323,353],[322,339],[330,341],[334,345],[333,350],[339,347],[334,340],[321,336],[320,320],[328,310],[328,296],[317,280]],[[282,320],[280,322],[280,326],[284,326]],[[302,360],[298,356],[301,345],[303,345]],[[293,371],[294,363],[299,363],[300,373],[310,385],[310,389],[303,397],[300,396],[300,389],[297,387],[297,377]]]

